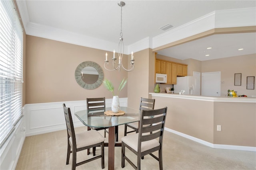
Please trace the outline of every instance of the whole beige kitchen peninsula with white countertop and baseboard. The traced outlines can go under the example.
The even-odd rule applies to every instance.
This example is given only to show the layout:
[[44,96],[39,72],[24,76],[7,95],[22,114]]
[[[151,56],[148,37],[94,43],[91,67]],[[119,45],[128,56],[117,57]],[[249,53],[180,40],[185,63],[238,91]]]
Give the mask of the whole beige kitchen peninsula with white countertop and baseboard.
[[213,148],[256,151],[256,98],[149,94],[155,109],[168,107],[166,130]]

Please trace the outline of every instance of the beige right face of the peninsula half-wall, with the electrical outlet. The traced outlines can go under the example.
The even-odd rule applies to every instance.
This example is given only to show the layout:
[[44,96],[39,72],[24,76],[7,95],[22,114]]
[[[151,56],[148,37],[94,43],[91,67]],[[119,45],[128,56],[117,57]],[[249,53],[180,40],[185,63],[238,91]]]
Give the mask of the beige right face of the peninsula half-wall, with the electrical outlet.
[[[221,125],[221,131],[216,131]],[[255,103],[214,103],[214,143],[256,147]]]

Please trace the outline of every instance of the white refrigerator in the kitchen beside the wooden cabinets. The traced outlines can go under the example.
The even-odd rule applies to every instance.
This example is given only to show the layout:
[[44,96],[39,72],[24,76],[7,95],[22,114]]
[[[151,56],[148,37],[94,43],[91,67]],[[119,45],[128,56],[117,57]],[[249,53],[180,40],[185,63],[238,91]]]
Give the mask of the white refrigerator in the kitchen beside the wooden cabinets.
[[174,93],[179,93],[181,90],[185,90],[185,95],[198,95],[200,92],[196,91],[196,78],[193,76],[177,77],[177,84],[174,84]]

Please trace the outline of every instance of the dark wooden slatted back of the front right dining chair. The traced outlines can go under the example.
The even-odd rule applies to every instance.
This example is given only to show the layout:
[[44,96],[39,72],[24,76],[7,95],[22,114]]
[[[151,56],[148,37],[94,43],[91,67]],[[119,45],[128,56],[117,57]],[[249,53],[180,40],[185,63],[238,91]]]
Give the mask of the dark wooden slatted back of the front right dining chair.
[[[141,142],[150,141],[158,137],[159,143],[162,145],[166,113],[167,107],[154,110],[142,110],[142,115],[140,117],[138,148],[141,147]],[[150,126],[143,127],[143,125],[149,124]],[[152,134],[148,134],[148,132],[152,132]]]

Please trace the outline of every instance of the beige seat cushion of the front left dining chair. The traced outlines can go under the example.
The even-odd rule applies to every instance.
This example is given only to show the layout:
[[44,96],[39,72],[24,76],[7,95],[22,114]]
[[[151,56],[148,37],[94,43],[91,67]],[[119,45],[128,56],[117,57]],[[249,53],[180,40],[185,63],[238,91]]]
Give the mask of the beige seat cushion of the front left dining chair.
[[[71,137],[70,137],[70,141],[71,141]],[[94,145],[96,143],[101,143],[103,141],[104,141],[104,137],[100,133],[98,133],[98,131],[96,130],[83,131],[80,133],[76,133],[76,148]]]

